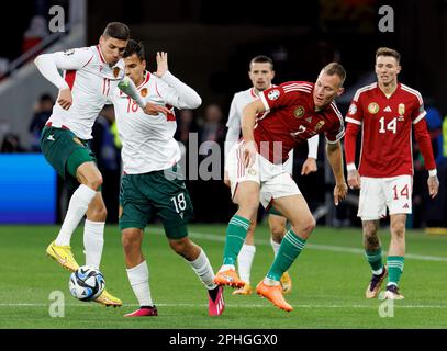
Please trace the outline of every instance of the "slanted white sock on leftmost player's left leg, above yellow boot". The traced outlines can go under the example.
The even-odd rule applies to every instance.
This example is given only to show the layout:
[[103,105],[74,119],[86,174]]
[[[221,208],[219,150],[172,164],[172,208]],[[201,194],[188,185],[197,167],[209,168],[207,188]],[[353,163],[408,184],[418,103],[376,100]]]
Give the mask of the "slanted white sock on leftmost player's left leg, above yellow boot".
[[57,246],[70,245],[71,235],[86,214],[97,192],[94,190],[83,184],[80,184],[75,191],[68,204],[67,215],[55,240]]

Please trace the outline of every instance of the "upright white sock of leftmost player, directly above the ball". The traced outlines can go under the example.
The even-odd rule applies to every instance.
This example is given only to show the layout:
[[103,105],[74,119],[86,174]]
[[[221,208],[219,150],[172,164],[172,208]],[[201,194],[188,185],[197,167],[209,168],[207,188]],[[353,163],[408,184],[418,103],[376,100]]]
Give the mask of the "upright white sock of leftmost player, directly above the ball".
[[83,226],[83,248],[86,264],[99,269],[101,263],[102,247],[104,246],[105,222],[91,222],[86,219]]

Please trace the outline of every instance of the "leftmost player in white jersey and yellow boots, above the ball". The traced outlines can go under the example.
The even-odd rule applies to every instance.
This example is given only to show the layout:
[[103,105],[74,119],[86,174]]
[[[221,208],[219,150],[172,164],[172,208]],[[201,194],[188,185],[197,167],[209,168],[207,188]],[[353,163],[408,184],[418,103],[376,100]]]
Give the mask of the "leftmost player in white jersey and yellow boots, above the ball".
[[[102,177],[87,143],[109,95],[119,87],[147,114],[167,113],[160,106],[145,105],[134,83],[125,76],[122,56],[128,36],[125,24],[111,22],[96,46],[43,54],[35,59],[41,73],[59,89],[53,114],[42,132],[42,152],[69,189],[76,189],[60,231],[46,252],[69,271],[79,268],[70,239],[85,215],[86,264],[98,269],[101,261],[107,210],[100,192]],[[64,77],[58,69],[64,71]],[[105,290],[96,302],[105,306],[122,305]]]

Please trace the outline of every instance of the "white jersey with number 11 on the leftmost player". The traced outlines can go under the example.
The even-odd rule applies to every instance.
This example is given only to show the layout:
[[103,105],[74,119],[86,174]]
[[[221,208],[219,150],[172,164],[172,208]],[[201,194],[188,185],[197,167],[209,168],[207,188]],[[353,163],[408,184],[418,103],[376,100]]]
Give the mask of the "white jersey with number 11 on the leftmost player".
[[91,139],[91,129],[98,114],[125,77],[124,61],[109,66],[99,45],[54,53],[57,67],[71,90],[72,104],[64,110],[58,103],[47,124],[66,127],[81,139]]

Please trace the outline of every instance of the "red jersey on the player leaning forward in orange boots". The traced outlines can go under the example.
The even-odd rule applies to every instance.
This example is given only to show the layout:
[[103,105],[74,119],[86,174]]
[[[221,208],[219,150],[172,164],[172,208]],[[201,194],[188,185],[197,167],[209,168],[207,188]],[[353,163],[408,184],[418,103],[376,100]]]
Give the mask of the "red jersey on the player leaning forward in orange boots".
[[266,112],[254,129],[259,154],[272,163],[283,163],[289,151],[315,134],[325,133],[327,143],[345,134],[343,116],[335,102],[315,111],[313,83],[290,81],[259,93]]

